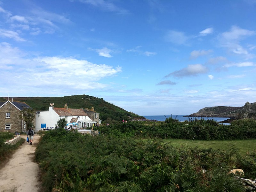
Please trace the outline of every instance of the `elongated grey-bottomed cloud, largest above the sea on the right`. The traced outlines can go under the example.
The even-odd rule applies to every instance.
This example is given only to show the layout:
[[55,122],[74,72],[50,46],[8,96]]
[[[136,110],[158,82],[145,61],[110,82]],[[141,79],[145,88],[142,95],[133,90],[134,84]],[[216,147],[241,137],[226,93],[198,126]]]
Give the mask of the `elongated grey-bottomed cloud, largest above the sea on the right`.
[[175,76],[175,77],[186,77],[186,76],[197,76],[199,74],[207,73],[208,68],[201,64],[188,65],[188,67],[174,71],[165,77]]

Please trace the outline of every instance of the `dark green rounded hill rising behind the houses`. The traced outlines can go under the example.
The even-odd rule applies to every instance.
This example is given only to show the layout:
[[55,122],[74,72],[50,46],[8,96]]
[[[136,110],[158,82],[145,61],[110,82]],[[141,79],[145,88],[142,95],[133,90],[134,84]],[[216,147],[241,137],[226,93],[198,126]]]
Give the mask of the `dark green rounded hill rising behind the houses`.
[[[7,98],[0,99],[7,100]],[[91,109],[94,107],[94,110],[100,113],[100,119],[105,122],[142,118],[142,116],[125,111],[123,108],[104,101],[103,98],[89,95],[72,95],[65,97],[14,97],[13,100],[25,102],[36,111],[48,110],[50,103],[54,103],[54,107],[57,108],[63,108],[65,103],[68,105],[68,108]]]

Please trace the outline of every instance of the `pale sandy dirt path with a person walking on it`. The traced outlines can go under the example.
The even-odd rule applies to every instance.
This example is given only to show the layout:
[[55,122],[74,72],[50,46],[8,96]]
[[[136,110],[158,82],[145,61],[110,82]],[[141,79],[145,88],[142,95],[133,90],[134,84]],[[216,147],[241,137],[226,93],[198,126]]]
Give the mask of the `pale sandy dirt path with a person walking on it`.
[[[26,139],[27,135],[21,135]],[[37,192],[41,183],[38,181],[38,164],[33,162],[39,135],[35,135],[33,145],[27,141],[12,155],[0,170],[1,192]]]

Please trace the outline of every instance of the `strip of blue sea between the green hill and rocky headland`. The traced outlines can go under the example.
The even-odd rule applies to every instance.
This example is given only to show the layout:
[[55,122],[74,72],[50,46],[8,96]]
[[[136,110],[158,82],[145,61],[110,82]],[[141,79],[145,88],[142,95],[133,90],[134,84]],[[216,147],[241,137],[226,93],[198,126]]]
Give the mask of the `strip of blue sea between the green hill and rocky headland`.
[[[166,117],[165,117],[166,116]],[[168,117],[172,117],[173,119],[178,119],[179,121],[185,121],[185,120],[188,120],[188,118],[201,118],[201,117],[184,117],[185,115],[150,115],[150,116],[143,116],[147,119],[150,119],[150,120],[157,120],[157,121],[165,121],[166,118]],[[227,120],[228,117],[202,117],[204,118],[205,120],[207,119],[214,119],[215,121],[217,122],[220,122],[220,121],[224,121],[224,120]]]

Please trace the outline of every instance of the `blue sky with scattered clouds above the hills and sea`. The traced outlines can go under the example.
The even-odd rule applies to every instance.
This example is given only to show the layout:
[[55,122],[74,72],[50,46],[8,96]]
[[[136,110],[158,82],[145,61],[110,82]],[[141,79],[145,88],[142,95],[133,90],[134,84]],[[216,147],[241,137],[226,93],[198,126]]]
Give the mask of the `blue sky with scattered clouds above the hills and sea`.
[[[0,97],[139,115],[256,101],[256,0],[0,0]],[[97,110],[97,109],[96,109]]]

